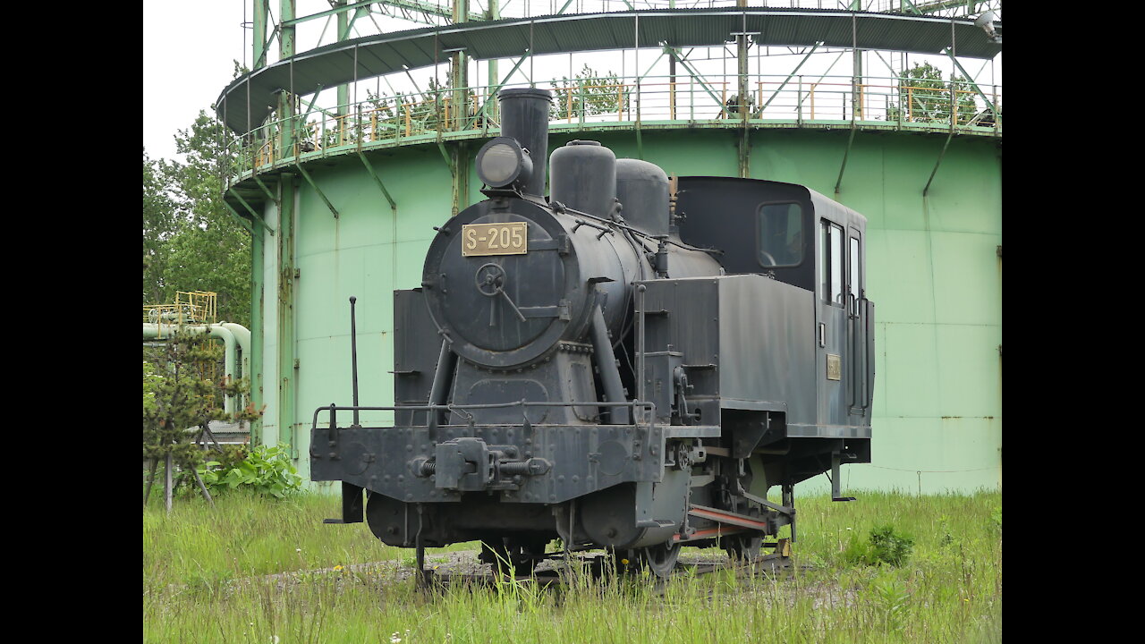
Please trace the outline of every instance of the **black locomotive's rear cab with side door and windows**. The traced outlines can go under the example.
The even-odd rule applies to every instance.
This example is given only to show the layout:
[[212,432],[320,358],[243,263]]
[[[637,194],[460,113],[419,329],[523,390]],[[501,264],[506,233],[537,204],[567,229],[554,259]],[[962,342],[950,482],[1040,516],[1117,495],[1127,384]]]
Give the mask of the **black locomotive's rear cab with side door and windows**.
[[[795,183],[681,176],[679,186],[682,239],[722,250],[728,275],[761,275],[793,286],[777,289],[784,293],[787,335],[747,340],[759,341],[749,351],[772,363],[777,352],[787,353],[782,371],[765,367],[767,376],[757,380],[789,386],[775,391],[760,384],[753,395],[785,402],[783,434],[803,439],[789,442],[795,451],[772,470],[805,480],[822,472],[821,463],[831,463],[832,496],[843,498],[838,465],[870,462],[875,308],[866,294],[867,219]],[[760,331],[767,336],[774,329],[765,324]]]

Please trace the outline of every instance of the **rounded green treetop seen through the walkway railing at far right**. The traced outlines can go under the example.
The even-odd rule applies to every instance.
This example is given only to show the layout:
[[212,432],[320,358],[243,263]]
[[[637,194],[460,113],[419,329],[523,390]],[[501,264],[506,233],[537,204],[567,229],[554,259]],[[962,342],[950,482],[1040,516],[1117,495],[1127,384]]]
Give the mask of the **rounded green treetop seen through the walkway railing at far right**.
[[899,101],[887,105],[886,120],[950,123],[950,92],[954,89],[957,123],[965,125],[978,112],[970,88],[970,81],[962,76],[951,76],[950,83],[945,83],[937,66],[915,63],[899,81]]

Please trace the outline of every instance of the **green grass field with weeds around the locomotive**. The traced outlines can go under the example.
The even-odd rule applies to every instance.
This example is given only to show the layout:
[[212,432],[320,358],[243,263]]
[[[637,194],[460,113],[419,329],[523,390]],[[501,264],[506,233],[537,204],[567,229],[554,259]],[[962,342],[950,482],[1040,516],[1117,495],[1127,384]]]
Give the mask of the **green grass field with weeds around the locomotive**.
[[[185,498],[169,517],[152,503],[143,517],[143,636],[259,644],[275,636],[281,644],[1000,642],[1001,493],[855,496],[799,501],[793,553],[814,567],[793,574],[684,574],[664,587],[639,575],[577,578],[559,590],[504,583],[431,594],[396,579],[411,550],[381,544],[362,524],[322,524],[338,516],[337,498],[236,495],[219,498],[215,510]],[[906,565],[846,563],[852,536],[884,525],[914,536]],[[443,550],[427,553],[431,564],[442,558]]]

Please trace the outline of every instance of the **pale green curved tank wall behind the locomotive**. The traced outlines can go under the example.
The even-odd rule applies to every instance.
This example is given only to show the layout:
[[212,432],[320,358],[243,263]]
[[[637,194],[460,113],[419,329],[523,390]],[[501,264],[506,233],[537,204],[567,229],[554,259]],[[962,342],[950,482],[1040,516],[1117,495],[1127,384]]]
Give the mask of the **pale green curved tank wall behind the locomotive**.
[[[739,173],[734,131],[643,131],[642,156],[678,175]],[[592,138],[617,157],[638,156],[631,132],[554,133],[550,151]],[[876,303],[877,380],[872,463],[844,468],[844,486],[923,493],[1001,486],[1002,243],[1001,152],[994,140],[956,138],[927,196],[923,188],[943,135],[858,133],[840,191],[835,193],[848,132],[760,129],[750,135],[750,175],[802,183],[868,219],[868,297]],[[471,142],[469,152],[480,147]],[[397,204],[390,210],[356,156],[307,165],[333,203],[295,181],[295,432],[300,473],[309,476],[314,409],[349,405],[349,296],[357,296],[358,369],[363,405],[390,405],[393,290],[420,282],[433,226],[451,209],[451,174],[436,146],[368,152]],[[481,197],[467,168],[468,202]],[[268,205],[266,219],[278,228]],[[275,296],[281,244],[266,237],[263,380],[268,442],[278,427],[282,386]],[[388,423],[388,414],[363,415]],[[826,477],[799,486],[827,489]]]

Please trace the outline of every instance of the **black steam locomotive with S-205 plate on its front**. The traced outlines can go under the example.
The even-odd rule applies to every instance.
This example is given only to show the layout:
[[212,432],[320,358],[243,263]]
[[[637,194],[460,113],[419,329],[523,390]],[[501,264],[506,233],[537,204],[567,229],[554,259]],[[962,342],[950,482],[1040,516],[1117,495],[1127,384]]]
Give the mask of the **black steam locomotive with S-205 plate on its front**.
[[315,411],[311,477],[342,481],[327,521],[364,519],[419,563],[480,540],[518,572],[558,537],[660,575],[682,544],[751,558],[793,537],[795,484],[831,471],[839,498],[839,465],[870,462],[866,219],[791,183],[672,184],[593,141],[550,160],[550,93],[499,99],[488,198],[394,293],[394,407],[358,407],[355,385],[354,407]]

